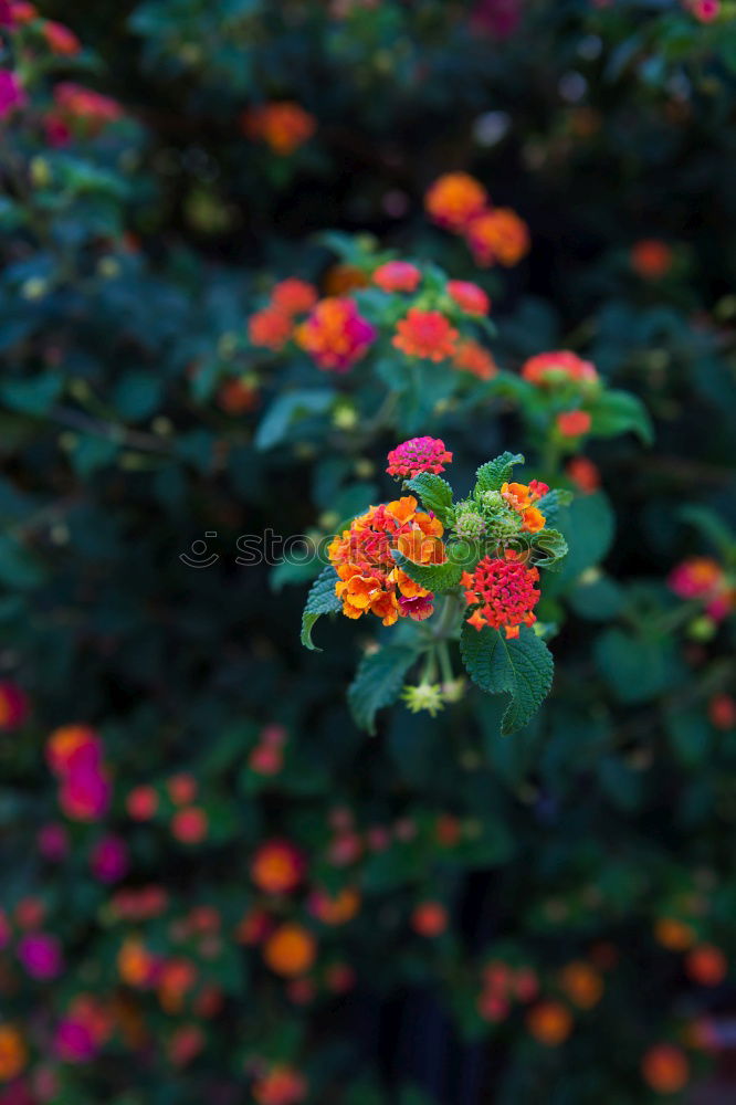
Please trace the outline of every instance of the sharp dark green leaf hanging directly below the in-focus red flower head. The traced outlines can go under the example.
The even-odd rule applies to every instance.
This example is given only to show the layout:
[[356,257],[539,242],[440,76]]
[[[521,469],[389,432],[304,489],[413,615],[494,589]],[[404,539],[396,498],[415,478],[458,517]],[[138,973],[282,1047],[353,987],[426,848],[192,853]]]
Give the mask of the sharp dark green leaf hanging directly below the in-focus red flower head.
[[544,641],[526,625],[518,638],[506,641],[497,630],[479,631],[465,622],[460,651],[467,674],[482,691],[512,696],[502,718],[502,736],[526,725],[551,687],[554,662]]

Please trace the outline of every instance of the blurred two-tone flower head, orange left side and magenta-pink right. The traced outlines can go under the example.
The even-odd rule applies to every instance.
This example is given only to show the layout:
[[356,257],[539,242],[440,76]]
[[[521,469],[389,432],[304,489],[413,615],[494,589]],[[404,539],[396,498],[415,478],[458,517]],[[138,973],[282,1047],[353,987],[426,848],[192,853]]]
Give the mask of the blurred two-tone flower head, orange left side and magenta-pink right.
[[376,329],[353,299],[328,297],[319,301],[294,336],[317,368],[347,372],[368,351]]

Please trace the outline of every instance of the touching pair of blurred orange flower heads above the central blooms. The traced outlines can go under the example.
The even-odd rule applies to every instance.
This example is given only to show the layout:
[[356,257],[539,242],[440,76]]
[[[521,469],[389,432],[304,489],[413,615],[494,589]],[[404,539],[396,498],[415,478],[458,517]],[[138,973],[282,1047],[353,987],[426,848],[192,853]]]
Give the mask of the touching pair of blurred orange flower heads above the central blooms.
[[428,190],[424,207],[439,227],[461,234],[479,265],[518,264],[529,251],[529,231],[515,211],[494,208],[480,181],[448,172]]

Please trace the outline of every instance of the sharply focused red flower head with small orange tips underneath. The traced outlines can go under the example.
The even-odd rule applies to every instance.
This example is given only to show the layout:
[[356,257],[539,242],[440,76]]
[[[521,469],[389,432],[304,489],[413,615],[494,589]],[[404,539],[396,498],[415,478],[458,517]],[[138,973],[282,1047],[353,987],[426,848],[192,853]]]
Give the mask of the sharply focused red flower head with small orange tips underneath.
[[534,586],[538,579],[537,569],[528,568],[514,549],[506,549],[504,559],[484,557],[473,572],[462,576],[465,601],[475,607],[469,623],[477,630],[503,629],[508,640],[518,636],[521,625],[537,620],[533,609],[540,598]]

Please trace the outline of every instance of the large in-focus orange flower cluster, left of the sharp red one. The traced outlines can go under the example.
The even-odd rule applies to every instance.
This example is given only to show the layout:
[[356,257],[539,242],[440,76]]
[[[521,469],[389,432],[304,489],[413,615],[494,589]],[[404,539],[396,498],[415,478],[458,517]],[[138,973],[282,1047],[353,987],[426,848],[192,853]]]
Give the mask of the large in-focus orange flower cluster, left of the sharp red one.
[[398,549],[416,564],[444,562],[442,523],[417,507],[413,495],[371,506],[332,541],[329,560],[339,577],[335,593],[347,618],[370,611],[393,625],[399,618],[423,621],[433,612],[432,592],[410,579],[391,555]]

